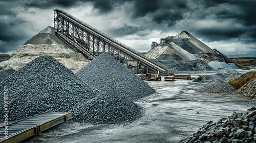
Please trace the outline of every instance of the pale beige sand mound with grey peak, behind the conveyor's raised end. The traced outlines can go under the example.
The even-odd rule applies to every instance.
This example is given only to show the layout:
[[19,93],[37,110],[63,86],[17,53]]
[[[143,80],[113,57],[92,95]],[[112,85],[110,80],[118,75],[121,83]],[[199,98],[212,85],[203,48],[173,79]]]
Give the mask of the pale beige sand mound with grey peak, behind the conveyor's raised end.
[[83,66],[90,62],[83,55],[76,53],[61,41],[54,34],[54,29],[49,26],[26,41],[24,45],[19,46],[12,53],[11,58],[1,62],[0,66],[18,70],[28,62],[43,55],[52,56],[71,70],[79,70],[82,67],[77,67],[77,62],[79,64],[83,62]]

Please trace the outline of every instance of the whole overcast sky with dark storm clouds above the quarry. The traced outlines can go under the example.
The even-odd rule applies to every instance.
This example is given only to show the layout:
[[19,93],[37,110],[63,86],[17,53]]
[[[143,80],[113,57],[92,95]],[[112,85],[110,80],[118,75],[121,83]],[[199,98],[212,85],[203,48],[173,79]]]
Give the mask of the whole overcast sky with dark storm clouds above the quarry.
[[0,53],[11,54],[35,34],[53,27],[62,9],[139,52],[151,42],[186,30],[230,57],[256,56],[256,1],[0,1]]

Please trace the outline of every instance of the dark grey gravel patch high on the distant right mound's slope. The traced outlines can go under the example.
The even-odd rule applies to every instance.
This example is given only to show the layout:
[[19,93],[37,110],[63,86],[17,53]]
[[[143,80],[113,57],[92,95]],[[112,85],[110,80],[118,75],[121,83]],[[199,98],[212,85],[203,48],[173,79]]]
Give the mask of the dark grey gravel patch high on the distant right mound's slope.
[[189,42],[188,40],[177,38],[173,39],[172,42],[180,46],[182,49],[186,50],[190,54],[197,54],[199,52],[202,52],[198,47],[196,47],[194,44]]

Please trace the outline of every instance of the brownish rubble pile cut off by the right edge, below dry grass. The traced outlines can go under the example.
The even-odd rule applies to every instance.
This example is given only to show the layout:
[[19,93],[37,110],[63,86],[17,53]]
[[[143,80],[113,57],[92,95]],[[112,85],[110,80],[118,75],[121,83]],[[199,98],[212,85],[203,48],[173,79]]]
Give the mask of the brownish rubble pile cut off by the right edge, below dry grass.
[[234,93],[242,94],[242,96],[245,96],[249,99],[256,99],[256,78],[249,80]]

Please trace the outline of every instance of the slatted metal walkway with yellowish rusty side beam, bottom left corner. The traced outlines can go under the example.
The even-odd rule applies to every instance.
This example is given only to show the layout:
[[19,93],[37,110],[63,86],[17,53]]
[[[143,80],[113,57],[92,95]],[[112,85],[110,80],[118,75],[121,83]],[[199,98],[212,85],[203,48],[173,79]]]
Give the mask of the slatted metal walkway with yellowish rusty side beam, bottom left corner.
[[33,135],[40,135],[42,131],[71,120],[71,116],[71,112],[44,112],[2,126],[0,142],[20,142]]

